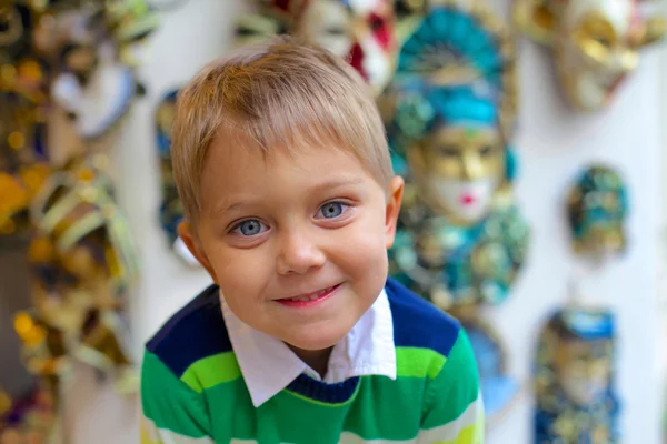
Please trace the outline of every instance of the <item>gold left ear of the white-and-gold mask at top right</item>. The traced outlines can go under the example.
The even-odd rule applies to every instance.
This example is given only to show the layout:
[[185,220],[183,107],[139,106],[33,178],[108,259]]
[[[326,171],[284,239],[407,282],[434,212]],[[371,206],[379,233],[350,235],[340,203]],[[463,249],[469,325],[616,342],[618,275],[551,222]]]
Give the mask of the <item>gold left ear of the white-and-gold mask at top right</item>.
[[558,17],[545,0],[516,0],[514,6],[516,26],[539,43],[554,44]]

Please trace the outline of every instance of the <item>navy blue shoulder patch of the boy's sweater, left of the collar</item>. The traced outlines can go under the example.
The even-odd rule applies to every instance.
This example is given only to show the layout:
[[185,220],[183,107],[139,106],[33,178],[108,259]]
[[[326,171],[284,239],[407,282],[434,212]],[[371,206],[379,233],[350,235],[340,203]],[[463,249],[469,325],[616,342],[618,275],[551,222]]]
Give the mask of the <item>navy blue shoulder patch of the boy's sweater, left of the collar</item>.
[[146,344],[178,377],[195,362],[231,351],[217,285],[178,311]]

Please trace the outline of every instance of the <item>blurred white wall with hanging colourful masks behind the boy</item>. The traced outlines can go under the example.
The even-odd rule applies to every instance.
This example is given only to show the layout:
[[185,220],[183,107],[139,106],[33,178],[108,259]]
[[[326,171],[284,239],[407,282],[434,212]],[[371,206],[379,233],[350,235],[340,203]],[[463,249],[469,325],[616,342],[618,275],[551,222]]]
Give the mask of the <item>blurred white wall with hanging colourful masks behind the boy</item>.
[[[210,282],[173,233],[175,91],[211,59],[280,32],[352,54],[375,87],[397,171],[414,184],[392,273],[479,334],[487,442],[667,442],[665,6],[350,1],[340,8],[367,33],[341,43],[349,23],[326,12],[344,2],[318,1],[325,12],[300,27],[298,1],[0,1],[0,442],[138,442],[143,343]],[[327,24],[344,28],[318,36]],[[494,110],[502,171],[478,152],[481,179],[501,176],[494,202],[475,195],[484,180],[471,173],[448,178],[478,210],[431,204],[420,178],[434,173],[406,161],[439,131],[407,130],[420,122],[410,100],[436,113],[454,100],[434,90]],[[451,259],[437,289],[412,273],[445,270],[419,250],[434,214],[465,239],[456,249],[481,251]]]

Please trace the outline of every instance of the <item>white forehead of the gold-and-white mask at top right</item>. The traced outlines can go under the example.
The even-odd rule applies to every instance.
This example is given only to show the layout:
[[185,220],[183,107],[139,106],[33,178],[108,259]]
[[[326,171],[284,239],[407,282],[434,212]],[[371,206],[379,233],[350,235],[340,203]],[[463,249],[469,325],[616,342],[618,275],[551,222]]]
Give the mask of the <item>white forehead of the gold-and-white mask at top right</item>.
[[636,0],[570,0],[565,20],[576,27],[588,16],[598,16],[611,24],[619,36],[627,34],[638,17]]

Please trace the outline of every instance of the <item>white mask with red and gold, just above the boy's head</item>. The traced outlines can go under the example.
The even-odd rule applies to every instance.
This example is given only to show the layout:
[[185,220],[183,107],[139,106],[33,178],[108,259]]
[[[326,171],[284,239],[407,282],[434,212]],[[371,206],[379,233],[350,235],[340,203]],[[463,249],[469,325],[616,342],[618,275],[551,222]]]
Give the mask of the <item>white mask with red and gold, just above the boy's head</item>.
[[272,0],[245,17],[237,33],[245,43],[292,33],[346,58],[380,93],[391,80],[396,37],[390,0]]

